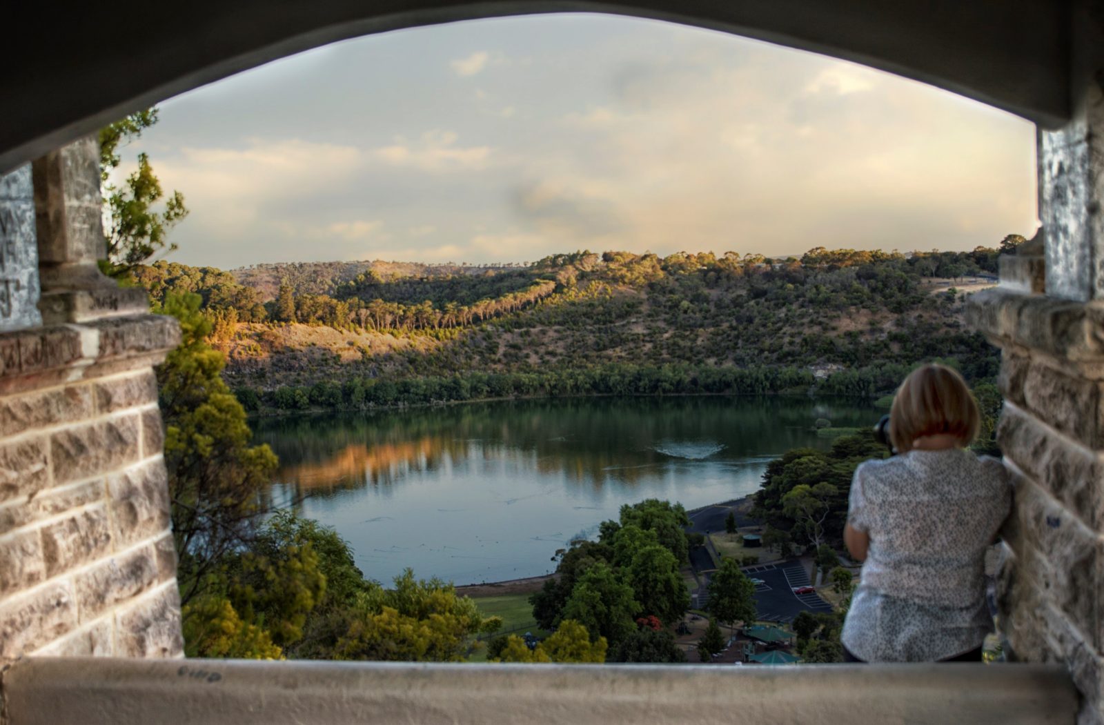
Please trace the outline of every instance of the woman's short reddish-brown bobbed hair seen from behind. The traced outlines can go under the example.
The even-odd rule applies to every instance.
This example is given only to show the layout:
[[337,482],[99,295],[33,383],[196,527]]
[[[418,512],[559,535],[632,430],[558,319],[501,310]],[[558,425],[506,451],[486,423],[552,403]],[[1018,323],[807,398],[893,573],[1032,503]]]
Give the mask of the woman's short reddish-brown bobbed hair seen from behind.
[[954,436],[966,447],[979,424],[977,403],[962,375],[945,365],[923,365],[904,379],[893,398],[890,440],[902,454],[924,436]]

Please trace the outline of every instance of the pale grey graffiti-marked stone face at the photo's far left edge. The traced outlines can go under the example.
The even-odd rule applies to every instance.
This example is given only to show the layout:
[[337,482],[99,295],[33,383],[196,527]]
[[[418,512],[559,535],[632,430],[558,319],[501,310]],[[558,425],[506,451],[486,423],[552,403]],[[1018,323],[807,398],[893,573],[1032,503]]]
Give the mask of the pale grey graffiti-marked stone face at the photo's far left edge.
[[42,324],[31,168],[0,177],[0,332]]

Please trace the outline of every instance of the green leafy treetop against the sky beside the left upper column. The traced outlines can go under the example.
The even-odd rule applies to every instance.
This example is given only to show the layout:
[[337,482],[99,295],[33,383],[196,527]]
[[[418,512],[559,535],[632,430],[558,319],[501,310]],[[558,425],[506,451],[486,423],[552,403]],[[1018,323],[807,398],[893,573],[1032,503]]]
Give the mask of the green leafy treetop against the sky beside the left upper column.
[[[112,172],[123,163],[120,147],[139,138],[158,120],[157,107],[134,113],[99,130],[100,193],[104,198],[106,271],[126,276],[147,263],[158,252],[172,252],[177,245],[167,239],[169,230],[188,215],[184,196],[173,191],[167,199],[161,182],[149,162],[139,153],[136,169],[123,180],[112,181]],[[164,199],[163,204],[159,204]]]

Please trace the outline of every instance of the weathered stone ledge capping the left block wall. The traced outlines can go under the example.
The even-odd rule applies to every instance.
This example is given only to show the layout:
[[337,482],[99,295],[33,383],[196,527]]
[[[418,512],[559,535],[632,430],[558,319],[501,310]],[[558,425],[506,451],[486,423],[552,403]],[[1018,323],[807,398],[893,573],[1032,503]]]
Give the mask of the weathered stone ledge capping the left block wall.
[[180,327],[164,314],[0,333],[0,395],[153,365],[178,344]]

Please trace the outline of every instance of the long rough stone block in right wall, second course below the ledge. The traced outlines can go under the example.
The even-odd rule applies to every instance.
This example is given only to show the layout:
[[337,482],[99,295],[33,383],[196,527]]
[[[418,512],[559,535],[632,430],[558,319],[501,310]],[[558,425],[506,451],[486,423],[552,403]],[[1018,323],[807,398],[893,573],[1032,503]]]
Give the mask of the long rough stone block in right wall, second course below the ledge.
[[1012,403],[997,427],[1005,458],[1091,529],[1104,530],[1104,456],[1078,445]]

